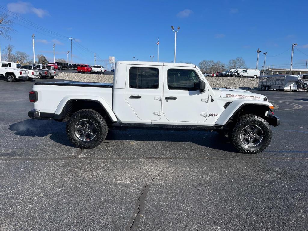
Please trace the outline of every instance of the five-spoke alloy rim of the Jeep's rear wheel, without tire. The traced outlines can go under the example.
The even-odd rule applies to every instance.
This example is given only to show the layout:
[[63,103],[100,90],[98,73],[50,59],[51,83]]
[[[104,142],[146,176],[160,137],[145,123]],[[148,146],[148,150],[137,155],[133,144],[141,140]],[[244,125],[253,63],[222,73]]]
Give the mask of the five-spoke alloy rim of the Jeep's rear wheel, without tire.
[[75,135],[79,140],[93,140],[97,134],[97,127],[91,120],[79,120],[75,125]]

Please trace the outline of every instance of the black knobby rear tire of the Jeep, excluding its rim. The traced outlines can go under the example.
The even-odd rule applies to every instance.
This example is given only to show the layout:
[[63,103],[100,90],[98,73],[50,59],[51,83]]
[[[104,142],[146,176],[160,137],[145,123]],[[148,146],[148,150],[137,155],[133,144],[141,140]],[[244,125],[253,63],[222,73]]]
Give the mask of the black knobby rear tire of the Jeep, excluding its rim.
[[[90,141],[80,140],[75,135],[75,125],[78,121],[84,119],[93,121],[97,128],[96,136]],[[77,148],[96,148],[106,138],[107,133],[108,126],[105,119],[97,111],[91,109],[83,109],[75,112],[66,124],[67,137]]]

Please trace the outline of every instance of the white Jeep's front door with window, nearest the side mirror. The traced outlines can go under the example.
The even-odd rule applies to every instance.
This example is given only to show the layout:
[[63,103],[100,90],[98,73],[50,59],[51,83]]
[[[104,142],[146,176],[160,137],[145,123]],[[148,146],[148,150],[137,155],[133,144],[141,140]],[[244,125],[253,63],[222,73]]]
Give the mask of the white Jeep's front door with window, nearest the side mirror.
[[195,87],[201,79],[189,67],[164,67],[163,113],[169,121],[204,122],[209,91]]

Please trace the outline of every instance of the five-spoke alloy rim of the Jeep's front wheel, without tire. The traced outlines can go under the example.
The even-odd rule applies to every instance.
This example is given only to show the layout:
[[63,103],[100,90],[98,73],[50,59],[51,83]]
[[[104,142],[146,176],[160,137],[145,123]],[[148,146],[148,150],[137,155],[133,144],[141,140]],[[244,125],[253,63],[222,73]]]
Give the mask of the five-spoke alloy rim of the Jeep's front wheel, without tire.
[[248,125],[241,131],[241,142],[248,147],[254,147],[261,143],[263,131],[257,125]]

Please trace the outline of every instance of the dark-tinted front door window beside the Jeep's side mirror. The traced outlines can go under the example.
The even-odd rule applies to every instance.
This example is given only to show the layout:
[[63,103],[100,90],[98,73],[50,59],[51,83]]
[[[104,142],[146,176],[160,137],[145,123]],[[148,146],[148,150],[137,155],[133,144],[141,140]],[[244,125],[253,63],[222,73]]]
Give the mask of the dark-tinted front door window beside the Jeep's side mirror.
[[168,70],[168,88],[170,90],[198,90],[195,83],[200,79],[193,70],[169,69]]

